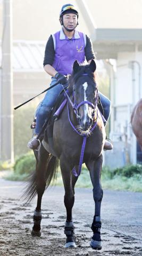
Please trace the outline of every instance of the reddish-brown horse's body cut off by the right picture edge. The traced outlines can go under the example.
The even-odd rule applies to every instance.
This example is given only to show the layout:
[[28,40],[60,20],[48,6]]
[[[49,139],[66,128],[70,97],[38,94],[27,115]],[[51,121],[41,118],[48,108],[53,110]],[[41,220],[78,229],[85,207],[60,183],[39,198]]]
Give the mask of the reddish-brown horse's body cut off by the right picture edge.
[[142,99],[140,99],[132,110],[131,125],[133,133],[142,150]]

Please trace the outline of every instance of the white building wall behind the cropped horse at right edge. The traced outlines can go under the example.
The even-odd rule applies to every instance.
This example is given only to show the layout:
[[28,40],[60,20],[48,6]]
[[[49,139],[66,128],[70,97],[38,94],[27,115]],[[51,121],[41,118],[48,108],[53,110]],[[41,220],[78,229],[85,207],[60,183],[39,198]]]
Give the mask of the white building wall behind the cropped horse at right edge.
[[[114,141],[128,147],[130,162],[136,164],[136,138],[132,133],[130,117],[132,108],[142,96],[142,52],[119,52],[116,60],[114,108]],[[123,148],[122,148],[123,150]]]

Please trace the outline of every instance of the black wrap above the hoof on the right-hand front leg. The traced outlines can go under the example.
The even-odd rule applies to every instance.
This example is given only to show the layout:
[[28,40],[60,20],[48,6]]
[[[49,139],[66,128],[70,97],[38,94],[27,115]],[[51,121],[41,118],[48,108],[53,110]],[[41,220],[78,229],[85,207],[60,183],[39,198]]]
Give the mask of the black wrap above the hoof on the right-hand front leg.
[[91,230],[94,233],[92,239],[95,241],[101,241],[101,226],[102,226],[101,218],[99,216],[94,216],[94,220],[91,225]]

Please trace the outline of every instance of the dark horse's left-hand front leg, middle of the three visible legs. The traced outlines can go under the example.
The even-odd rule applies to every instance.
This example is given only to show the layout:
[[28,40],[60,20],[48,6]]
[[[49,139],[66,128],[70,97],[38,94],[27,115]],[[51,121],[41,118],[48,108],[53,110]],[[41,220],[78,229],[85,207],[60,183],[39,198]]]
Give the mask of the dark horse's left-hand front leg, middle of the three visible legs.
[[72,207],[74,204],[74,193],[71,184],[71,170],[69,168],[68,161],[65,161],[65,159],[60,159],[60,166],[65,189],[64,205],[66,208],[66,221],[64,227],[66,243],[64,247],[76,247],[76,243],[74,242],[74,226],[72,222]]

